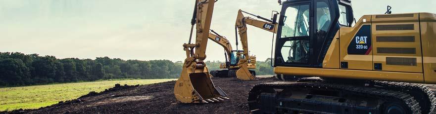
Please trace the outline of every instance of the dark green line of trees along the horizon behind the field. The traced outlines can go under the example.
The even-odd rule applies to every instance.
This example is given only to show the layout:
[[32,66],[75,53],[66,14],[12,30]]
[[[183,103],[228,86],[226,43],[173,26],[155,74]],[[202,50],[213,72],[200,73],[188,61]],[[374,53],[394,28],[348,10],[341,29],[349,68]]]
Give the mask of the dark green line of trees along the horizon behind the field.
[[[220,61],[207,61],[209,70],[219,69]],[[23,86],[47,83],[95,81],[99,79],[178,78],[182,61],[122,60],[97,57],[96,59],[64,58],[0,52],[0,86]],[[257,75],[270,75],[269,61],[257,62]]]

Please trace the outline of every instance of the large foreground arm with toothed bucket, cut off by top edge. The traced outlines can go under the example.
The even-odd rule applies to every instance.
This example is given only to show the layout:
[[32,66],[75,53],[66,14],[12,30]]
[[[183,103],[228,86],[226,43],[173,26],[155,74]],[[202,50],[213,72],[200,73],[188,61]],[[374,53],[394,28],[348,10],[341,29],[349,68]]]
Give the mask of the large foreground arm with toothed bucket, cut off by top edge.
[[186,59],[180,78],[174,85],[174,95],[182,103],[210,103],[228,99],[219,87],[213,84],[203,60],[206,58],[206,46],[215,0],[195,0],[191,35],[196,25],[195,43],[183,44]]

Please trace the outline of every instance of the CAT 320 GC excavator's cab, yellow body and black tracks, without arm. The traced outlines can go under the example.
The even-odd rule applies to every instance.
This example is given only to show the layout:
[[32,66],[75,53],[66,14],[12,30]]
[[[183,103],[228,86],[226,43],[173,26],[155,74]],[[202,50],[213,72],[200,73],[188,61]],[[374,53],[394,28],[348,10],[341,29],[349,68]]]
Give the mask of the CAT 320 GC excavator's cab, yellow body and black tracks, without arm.
[[350,0],[279,3],[274,72],[321,78],[257,84],[251,113],[435,114],[436,14],[355,20]]

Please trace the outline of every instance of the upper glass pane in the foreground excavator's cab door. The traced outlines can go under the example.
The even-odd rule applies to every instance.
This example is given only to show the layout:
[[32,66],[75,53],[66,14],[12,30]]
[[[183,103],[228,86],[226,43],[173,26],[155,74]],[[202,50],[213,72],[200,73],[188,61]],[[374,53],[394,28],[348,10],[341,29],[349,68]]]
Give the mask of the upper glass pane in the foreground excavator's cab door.
[[294,5],[286,9],[282,38],[309,36],[309,5]]

